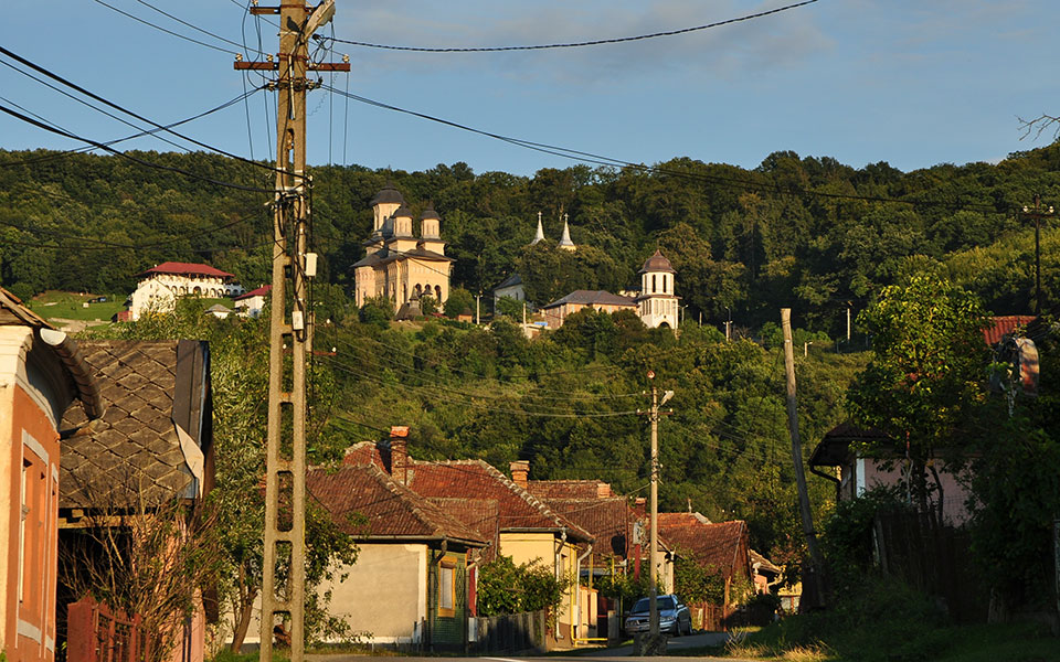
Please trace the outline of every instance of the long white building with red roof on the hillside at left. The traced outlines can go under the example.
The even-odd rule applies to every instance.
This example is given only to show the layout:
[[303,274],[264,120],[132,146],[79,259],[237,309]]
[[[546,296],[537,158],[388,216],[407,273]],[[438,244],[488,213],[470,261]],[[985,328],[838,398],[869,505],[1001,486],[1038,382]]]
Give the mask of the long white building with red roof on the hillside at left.
[[220,299],[243,293],[243,286],[235,275],[191,263],[168,261],[156,265],[136,275],[140,279],[132,292],[129,316],[132,320],[149,310],[169,312],[179,297],[206,297]]

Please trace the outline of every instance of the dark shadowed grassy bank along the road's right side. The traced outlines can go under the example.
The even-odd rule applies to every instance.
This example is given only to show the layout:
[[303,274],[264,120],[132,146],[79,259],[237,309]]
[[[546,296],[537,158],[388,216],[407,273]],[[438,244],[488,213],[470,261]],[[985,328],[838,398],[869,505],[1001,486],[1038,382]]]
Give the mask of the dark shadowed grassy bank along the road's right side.
[[723,654],[797,662],[1060,662],[1060,639],[1037,623],[954,626],[922,594],[869,579],[862,595],[734,637]]

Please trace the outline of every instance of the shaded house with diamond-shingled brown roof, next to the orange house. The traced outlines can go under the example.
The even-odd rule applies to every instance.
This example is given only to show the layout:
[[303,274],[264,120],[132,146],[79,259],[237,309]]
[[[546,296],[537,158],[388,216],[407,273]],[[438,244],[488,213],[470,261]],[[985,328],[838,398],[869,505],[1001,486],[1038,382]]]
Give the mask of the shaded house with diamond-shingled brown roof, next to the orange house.
[[[98,544],[99,527],[149,519],[174,500],[191,505],[213,487],[214,473],[205,342],[86,340],[81,348],[105,410],[88,420],[75,403],[62,418],[59,544],[72,559],[75,584],[88,572],[77,564],[82,551]],[[61,587],[61,618],[66,604],[83,597],[74,588]],[[198,609],[177,623],[173,662],[201,662],[206,620],[218,618],[212,587],[189,590]]]

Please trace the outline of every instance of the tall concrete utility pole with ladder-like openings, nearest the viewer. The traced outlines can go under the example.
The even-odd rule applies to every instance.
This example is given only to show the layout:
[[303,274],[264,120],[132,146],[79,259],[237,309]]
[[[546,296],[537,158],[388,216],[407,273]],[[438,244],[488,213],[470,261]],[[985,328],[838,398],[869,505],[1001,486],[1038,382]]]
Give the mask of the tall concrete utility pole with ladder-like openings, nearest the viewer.
[[[306,173],[306,92],[319,84],[307,71],[350,71],[348,63],[311,64],[308,42],[331,20],[335,0],[316,9],[301,2],[251,7],[251,13],[279,15],[279,53],[266,62],[243,62],[236,70],[277,72],[269,88],[277,92],[276,193],[273,201],[273,289],[268,340],[268,425],[265,468],[265,531],[262,568],[259,659],[272,662],[273,628],[290,620],[290,661],[305,656],[306,602],[306,356],[312,338],[308,279],[317,256],[307,252],[309,188]],[[287,279],[290,278],[288,321]],[[289,343],[289,344],[288,344]],[[284,366],[289,346],[292,364]],[[290,384],[290,391],[284,387]],[[289,427],[284,425],[289,420]],[[280,505],[283,504],[283,509]],[[289,512],[288,512],[289,509]],[[277,565],[288,568],[286,583]]]

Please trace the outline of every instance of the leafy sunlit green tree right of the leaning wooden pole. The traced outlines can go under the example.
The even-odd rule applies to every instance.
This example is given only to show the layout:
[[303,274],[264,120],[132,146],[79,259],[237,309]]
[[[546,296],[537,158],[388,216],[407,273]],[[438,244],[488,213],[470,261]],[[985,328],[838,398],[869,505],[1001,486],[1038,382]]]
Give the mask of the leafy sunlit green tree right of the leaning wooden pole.
[[[908,448],[921,510],[928,510],[928,471],[935,472],[931,460],[961,445],[958,430],[985,397],[987,321],[973,295],[920,275],[884,288],[858,316],[872,335],[873,353],[848,393],[850,412],[859,425]],[[934,489],[941,490],[936,474]]]

